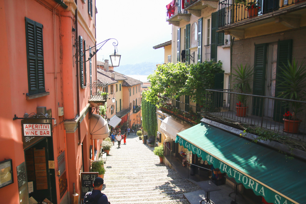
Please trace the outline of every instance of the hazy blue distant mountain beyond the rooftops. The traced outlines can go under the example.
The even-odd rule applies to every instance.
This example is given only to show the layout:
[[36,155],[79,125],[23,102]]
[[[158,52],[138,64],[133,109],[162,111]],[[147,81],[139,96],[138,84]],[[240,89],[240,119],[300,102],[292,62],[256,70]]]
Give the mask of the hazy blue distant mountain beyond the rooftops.
[[142,62],[135,65],[120,65],[115,67],[114,71],[124,75],[150,75],[153,74],[153,70],[156,70],[156,65],[162,63]]

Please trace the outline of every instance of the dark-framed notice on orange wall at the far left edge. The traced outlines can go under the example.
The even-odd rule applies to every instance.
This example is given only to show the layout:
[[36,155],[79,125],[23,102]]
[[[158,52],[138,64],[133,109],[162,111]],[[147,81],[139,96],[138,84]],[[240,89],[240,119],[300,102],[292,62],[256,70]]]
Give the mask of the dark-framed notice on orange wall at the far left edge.
[[14,183],[12,159],[0,161],[0,188]]

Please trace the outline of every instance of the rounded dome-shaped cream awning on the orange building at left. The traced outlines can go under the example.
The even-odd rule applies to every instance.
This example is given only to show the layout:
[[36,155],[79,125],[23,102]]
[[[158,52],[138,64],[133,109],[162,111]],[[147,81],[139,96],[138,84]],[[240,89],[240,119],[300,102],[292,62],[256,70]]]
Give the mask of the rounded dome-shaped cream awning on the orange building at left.
[[92,139],[104,139],[110,134],[107,121],[97,114],[91,114],[90,116],[90,134]]

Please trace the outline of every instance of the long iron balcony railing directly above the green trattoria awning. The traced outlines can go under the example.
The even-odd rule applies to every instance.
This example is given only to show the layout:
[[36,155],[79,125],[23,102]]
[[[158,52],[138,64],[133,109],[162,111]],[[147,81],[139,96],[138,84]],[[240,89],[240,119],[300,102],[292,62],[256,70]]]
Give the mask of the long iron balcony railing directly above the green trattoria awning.
[[[246,101],[244,103],[240,102],[239,104],[238,98],[241,98],[241,96],[245,96]],[[231,92],[230,90],[206,90],[205,101],[203,114],[206,116],[214,117],[222,121],[226,119],[226,121],[231,121],[234,124],[238,122],[243,126],[251,125],[253,127],[265,128],[298,139],[306,139],[306,102],[268,96],[240,94]],[[296,125],[298,128],[297,132],[287,131],[284,128],[284,115],[288,111],[290,112],[290,104],[292,103],[295,103],[303,110],[296,113],[296,117],[301,120],[299,126]],[[291,122],[291,124],[293,124],[293,122]]]

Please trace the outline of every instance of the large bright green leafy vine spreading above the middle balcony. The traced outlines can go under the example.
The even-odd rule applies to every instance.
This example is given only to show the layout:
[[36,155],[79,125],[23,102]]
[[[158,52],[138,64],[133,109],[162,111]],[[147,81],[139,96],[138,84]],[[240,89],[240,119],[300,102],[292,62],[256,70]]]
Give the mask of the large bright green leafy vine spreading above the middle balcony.
[[200,106],[204,105],[205,89],[214,88],[215,74],[224,72],[221,67],[220,61],[217,63],[205,61],[191,65],[181,62],[175,65],[173,63],[157,65],[155,73],[148,77],[151,87],[147,92],[146,100],[159,106],[159,94],[166,93],[170,96],[172,93],[177,93],[172,97],[189,95],[192,102]]

